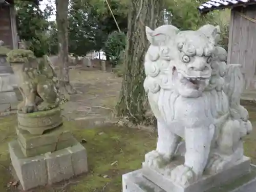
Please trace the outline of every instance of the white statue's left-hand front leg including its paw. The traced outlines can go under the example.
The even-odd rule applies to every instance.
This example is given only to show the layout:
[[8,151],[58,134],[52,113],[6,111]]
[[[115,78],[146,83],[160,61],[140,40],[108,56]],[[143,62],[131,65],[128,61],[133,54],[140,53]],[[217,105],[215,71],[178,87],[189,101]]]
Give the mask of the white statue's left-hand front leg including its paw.
[[158,121],[157,125],[157,149],[145,155],[145,162],[151,167],[161,167],[168,163],[181,140],[181,137],[172,133],[164,123]]

